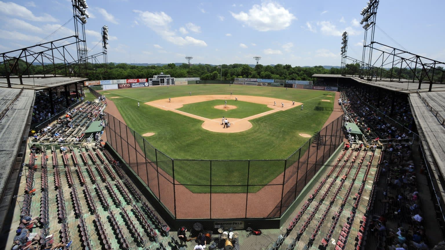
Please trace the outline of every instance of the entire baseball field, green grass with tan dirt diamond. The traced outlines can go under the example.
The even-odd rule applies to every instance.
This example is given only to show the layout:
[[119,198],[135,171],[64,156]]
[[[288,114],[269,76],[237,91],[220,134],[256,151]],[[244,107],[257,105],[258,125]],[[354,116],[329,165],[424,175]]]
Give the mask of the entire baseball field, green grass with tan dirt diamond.
[[[105,90],[101,94],[114,102],[135,132],[150,133],[145,139],[175,159],[175,179],[190,185],[210,184],[208,166],[178,161],[184,163],[181,165],[176,159],[285,159],[323,127],[335,97],[329,91],[247,85],[156,86]],[[231,123],[230,128],[223,128],[223,116]],[[171,175],[171,166],[158,165]],[[221,162],[221,168],[214,165],[212,185],[227,185],[229,179],[231,185],[247,185],[244,165],[243,161]],[[265,185],[282,172],[281,164],[258,165],[249,180]],[[187,188],[194,193],[209,192],[206,186]],[[248,192],[260,189],[259,185]],[[246,187],[217,186],[212,192],[243,193]]]

